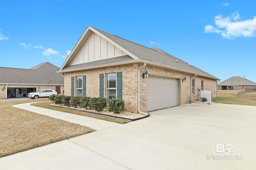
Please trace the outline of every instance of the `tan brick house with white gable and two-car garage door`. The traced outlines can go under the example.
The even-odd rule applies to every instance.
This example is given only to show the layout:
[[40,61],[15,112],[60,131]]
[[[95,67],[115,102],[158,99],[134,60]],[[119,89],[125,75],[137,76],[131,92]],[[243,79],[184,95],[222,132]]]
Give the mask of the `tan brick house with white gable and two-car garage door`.
[[[148,78],[142,74],[149,73]],[[215,76],[158,48],[148,48],[88,26],[60,68],[65,95],[121,98],[127,111],[142,113],[217,96]]]

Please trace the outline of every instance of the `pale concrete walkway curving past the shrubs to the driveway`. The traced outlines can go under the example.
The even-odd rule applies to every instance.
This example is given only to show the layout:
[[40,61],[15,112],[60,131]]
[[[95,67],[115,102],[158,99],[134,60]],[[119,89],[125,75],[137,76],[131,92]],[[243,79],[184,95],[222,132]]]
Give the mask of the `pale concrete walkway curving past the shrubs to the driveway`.
[[27,111],[32,111],[34,113],[38,113],[38,114],[41,114],[41,115],[54,117],[56,119],[69,121],[71,123],[76,123],[76,124],[79,124],[79,125],[82,125],[82,126],[87,126],[87,127],[92,128],[92,129],[95,129],[97,131],[100,131],[102,129],[106,129],[106,128],[109,128],[109,127],[113,127],[113,126],[116,126],[116,125],[120,125],[120,123],[114,123],[114,122],[110,122],[110,121],[95,119],[95,118],[92,118],[92,117],[85,117],[85,116],[81,116],[81,115],[65,113],[65,112],[62,112],[62,111],[45,109],[45,108],[42,108],[42,107],[31,106],[30,104],[32,104],[32,103],[16,104],[16,105],[13,105],[13,107],[17,107],[17,108],[24,109],[24,110],[27,110]]

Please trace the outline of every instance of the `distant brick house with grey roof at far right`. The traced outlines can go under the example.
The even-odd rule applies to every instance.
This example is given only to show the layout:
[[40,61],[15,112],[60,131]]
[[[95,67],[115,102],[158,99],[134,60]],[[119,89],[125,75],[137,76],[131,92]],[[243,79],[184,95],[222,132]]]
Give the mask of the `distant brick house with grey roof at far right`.
[[246,79],[244,76],[230,77],[223,82],[218,83],[218,90],[254,90],[256,89],[256,83]]

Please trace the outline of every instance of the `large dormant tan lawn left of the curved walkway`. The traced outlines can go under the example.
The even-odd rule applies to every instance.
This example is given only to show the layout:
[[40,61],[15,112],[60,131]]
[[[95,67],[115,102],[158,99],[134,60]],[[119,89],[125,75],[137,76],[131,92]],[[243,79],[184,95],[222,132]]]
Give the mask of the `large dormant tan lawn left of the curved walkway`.
[[48,101],[0,101],[0,157],[93,132],[94,129],[12,107],[14,104]]

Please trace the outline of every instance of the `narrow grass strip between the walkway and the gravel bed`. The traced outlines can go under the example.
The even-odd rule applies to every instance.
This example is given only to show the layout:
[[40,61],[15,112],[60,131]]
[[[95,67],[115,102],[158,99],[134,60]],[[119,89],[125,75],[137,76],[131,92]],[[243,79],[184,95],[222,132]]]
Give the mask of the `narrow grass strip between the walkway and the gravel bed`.
[[92,118],[106,120],[106,121],[112,121],[112,122],[120,123],[120,124],[128,123],[131,121],[129,119],[111,117],[108,115],[100,115],[100,114],[89,113],[89,112],[85,112],[85,111],[79,111],[79,110],[68,109],[68,108],[63,108],[63,107],[54,107],[54,106],[50,106],[50,104],[52,104],[52,102],[34,103],[31,105],[37,106],[37,107],[44,107],[46,109],[63,111],[63,112],[72,113],[72,114],[76,114],[76,115],[82,115],[82,116],[86,116],[86,117],[92,117]]

